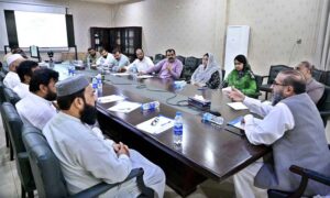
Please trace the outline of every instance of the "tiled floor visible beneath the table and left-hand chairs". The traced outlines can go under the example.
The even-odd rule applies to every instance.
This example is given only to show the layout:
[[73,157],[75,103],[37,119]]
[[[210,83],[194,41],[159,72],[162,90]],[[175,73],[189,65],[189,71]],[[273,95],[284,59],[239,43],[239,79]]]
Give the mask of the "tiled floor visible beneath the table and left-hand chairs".
[[[231,182],[216,183],[206,180],[188,198],[229,198],[233,197],[233,185]],[[0,117],[0,198],[21,197],[21,183],[18,176],[14,161],[9,160],[9,150],[6,147],[6,138]],[[37,197],[37,196],[36,196]],[[166,187],[165,198],[179,198],[172,188]]]

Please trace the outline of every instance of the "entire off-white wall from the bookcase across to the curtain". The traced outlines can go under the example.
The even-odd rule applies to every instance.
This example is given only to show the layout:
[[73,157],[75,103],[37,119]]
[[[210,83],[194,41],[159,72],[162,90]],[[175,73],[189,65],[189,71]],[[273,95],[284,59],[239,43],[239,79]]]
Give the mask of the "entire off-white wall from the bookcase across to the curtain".
[[[150,55],[168,47],[200,57],[212,52],[223,65],[227,25],[250,25],[249,61],[256,74],[272,64],[311,61],[320,0],[147,0],[112,7],[117,26],[143,28],[143,47]],[[289,56],[297,38],[297,45]]]

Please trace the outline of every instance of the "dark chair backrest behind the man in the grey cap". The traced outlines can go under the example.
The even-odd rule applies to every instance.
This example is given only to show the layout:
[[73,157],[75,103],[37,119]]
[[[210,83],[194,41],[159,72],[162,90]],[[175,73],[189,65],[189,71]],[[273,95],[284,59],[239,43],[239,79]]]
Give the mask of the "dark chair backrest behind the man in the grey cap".
[[61,165],[42,132],[24,125],[23,142],[36,185],[38,197],[67,197],[68,191]]

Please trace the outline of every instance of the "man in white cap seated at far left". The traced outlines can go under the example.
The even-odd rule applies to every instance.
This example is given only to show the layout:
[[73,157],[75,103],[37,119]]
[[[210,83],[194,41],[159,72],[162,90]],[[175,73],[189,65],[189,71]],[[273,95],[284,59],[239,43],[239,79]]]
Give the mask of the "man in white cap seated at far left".
[[7,64],[9,67],[9,72],[6,75],[6,77],[3,78],[3,85],[10,89],[13,89],[14,87],[16,87],[21,80],[19,75],[16,74],[16,67],[24,62],[24,58],[19,55],[19,54],[13,54],[10,55],[7,58]]

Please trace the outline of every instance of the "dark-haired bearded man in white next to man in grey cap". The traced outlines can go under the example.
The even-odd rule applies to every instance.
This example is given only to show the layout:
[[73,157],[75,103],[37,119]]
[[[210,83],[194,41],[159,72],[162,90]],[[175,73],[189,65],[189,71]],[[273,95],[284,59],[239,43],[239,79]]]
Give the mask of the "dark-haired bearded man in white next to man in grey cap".
[[55,84],[58,73],[48,68],[37,69],[30,80],[30,92],[16,105],[16,110],[24,124],[32,124],[42,130],[56,114],[52,101],[56,100]]

